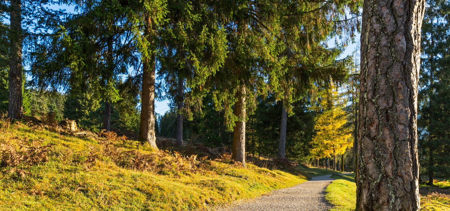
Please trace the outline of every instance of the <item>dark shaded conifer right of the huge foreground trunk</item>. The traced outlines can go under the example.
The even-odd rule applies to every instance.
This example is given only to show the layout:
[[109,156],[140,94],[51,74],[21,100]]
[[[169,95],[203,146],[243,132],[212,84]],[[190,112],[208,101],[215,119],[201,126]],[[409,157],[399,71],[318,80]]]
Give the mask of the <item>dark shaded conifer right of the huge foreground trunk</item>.
[[428,173],[428,185],[435,176],[450,177],[450,3],[427,0],[422,26],[422,65],[419,79],[419,158]]

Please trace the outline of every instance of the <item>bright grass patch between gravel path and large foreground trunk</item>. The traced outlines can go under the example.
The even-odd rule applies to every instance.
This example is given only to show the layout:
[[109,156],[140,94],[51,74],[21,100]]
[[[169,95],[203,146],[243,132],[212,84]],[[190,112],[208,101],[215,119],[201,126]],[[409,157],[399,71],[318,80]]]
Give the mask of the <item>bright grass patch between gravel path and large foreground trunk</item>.
[[325,198],[334,205],[330,211],[353,211],[356,205],[355,173],[331,176],[335,179],[325,190]]

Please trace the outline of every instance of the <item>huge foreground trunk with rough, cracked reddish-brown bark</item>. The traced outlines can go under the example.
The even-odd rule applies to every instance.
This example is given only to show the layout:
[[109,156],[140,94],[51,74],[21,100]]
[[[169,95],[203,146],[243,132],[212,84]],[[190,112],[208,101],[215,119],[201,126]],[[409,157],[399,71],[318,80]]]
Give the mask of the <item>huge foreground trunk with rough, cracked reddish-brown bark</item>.
[[417,92],[424,0],[365,0],[356,211],[418,211]]

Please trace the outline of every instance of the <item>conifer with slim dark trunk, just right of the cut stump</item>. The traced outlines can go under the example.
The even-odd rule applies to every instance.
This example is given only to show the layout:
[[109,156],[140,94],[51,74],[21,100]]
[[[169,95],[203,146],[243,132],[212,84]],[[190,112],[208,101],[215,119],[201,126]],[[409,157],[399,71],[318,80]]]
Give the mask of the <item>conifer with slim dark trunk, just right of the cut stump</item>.
[[33,53],[34,84],[39,87],[64,87],[72,94],[88,88],[93,97],[104,101],[103,129],[110,130],[111,103],[121,99],[117,84],[137,63],[135,43],[127,22],[129,8],[116,0],[86,1],[79,4],[83,13],[68,18],[59,36],[45,40]]

